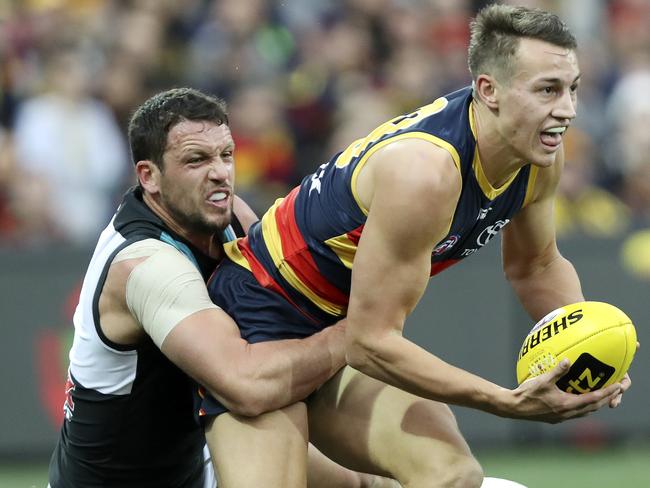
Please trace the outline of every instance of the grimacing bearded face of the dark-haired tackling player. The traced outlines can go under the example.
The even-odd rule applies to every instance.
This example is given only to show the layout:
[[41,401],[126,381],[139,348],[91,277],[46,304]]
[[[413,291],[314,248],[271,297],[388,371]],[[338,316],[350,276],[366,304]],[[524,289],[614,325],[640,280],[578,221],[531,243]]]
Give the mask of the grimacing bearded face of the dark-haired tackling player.
[[189,234],[212,235],[232,218],[235,143],[227,125],[182,120],[167,135],[160,199]]

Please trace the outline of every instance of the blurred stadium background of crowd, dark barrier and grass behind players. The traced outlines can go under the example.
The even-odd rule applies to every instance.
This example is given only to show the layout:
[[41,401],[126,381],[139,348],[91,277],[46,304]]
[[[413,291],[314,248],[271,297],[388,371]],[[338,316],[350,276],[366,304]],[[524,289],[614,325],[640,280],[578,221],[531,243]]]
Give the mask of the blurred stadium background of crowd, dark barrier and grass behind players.
[[[469,0],[0,0],[0,487],[44,485],[91,248],[133,183],[130,111],[191,85],[225,98],[237,192],[258,211],[378,123],[468,83]],[[590,299],[650,322],[650,0],[512,2],[578,36],[560,247]],[[530,321],[498,243],[431,283],[407,335],[504,386]],[[650,485],[650,366],[622,406],[559,426],[456,409],[488,474]]]

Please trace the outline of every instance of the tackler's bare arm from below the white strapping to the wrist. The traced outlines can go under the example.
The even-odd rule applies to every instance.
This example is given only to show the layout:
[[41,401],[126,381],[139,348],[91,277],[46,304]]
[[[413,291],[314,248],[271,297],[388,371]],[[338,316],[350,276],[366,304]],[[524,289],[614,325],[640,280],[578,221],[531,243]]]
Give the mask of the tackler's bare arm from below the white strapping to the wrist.
[[226,408],[253,416],[305,398],[334,375],[345,363],[344,334],[339,323],[305,339],[249,344],[213,308],[176,325],[161,350]]

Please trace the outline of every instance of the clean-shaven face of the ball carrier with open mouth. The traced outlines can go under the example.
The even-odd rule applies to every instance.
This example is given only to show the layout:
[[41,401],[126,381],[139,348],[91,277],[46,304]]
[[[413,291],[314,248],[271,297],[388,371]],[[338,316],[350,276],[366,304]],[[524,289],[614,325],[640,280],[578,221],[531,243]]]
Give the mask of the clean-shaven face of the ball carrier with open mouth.
[[522,39],[513,75],[501,85],[500,133],[514,156],[548,167],[576,116],[580,79],[575,51]]

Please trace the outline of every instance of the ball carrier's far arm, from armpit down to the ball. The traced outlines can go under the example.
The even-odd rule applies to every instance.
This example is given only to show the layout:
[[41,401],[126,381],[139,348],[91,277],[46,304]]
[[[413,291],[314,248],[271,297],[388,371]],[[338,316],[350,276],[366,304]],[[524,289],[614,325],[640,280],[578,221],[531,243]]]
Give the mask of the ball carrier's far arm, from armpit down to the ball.
[[575,268],[557,247],[554,199],[564,155],[540,169],[531,202],[502,235],[503,269],[522,305],[537,322],[551,310],[584,300]]

